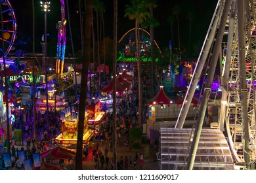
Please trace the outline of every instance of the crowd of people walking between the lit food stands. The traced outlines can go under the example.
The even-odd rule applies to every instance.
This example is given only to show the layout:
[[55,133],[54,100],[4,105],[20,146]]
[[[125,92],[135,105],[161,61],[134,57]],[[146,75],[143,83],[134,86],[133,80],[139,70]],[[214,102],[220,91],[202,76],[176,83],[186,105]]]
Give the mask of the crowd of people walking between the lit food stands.
[[[143,80],[143,96],[144,96],[144,120],[146,122],[146,100],[149,96],[149,82],[148,80]],[[117,100],[117,145],[125,146],[127,153],[132,150],[131,143],[129,142],[129,129],[131,127],[138,125],[138,95],[137,95],[137,82],[134,82],[133,89],[127,91],[124,95],[119,95]],[[37,112],[36,117],[36,127],[37,130],[37,139],[33,139],[33,112],[32,106],[26,106],[25,110],[20,112],[20,110],[12,111],[12,114],[15,116],[15,122],[12,123],[12,131],[16,128],[23,129],[24,139],[26,139],[25,144],[20,149],[18,149],[15,144],[12,145],[12,168],[18,167],[22,168],[19,165],[19,160],[17,156],[18,150],[24,150],[26,152],[26,158],[33,158],[33,153],[41,153],[49,149],[49,146],[55,144],[55,138],[61,133],[62,121],[60,118],[60,112],[48,112],[41,113]],[[89,153],[93,154],[93,161],[95,162],[95,169],[113,169],[113,162],[110,159],[109,153],[112,152],[112,123],[113,123],[112,112],[106,112],[104,120],[100,125],[100,134],[98,142],[95,143],[93,150],[89,150],[88,146],[84,147],[84,156],[87,158]],[[96,138],[95,138],[96,139]],[[13,139],[12,139],[13,140]],[[121,141],[124,143],[121,144]],[[120,156],[117,159],[118,169],[128,169],[128,165],[133,165],[133,168],[136,169],[137,164],[142,164],[141,159],[143,155],[140,154],[140,157],[135,155],[132,157]],[[32,161],[33,162],[33,161]]]

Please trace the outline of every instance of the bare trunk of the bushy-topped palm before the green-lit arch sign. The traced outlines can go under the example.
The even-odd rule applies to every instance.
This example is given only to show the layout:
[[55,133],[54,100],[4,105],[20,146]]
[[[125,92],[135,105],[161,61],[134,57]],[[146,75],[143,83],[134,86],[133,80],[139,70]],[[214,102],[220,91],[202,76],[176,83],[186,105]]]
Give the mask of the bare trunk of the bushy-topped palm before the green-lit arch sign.
[[139,52],[139,22],[138,18],[135,20],[135,39],[137,52],[137,68],[138,68],[138,93],[139,93],[139,127],[142,129],[143,124],[143,110],[142,110],[142,83],[141,83],[141,63]]

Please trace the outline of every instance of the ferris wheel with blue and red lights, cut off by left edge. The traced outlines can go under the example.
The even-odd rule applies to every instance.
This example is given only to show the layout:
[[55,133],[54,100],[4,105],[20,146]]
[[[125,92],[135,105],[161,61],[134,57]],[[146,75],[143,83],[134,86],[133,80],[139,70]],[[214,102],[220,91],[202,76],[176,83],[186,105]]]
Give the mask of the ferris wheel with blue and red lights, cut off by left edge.
[[[0,44],[0,54],[7,56],[10,52],[14,40],[16,38],[16,18],[14,10],[8,0],[0,0],[2,6],[3,22],[0,20],[0,41],[5,42],[5,49],[3,50],[2,44]],[[3,36],[1,34],[1,23],[3,23]],[[4,53],[3,53],[4,52]]]

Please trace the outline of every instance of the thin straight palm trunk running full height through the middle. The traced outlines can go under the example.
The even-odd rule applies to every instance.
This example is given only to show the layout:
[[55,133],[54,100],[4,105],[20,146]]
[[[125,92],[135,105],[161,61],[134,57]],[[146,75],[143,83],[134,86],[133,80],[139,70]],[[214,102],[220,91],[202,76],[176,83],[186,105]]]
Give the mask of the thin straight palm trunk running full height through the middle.
[[113,27],[113,138],[112,138],[112,148],[113,148],[113,163],[114,170],[117,169],[117,134],[116,134],[116,56],[117,56],[117,0],[114,0],[114,27]]

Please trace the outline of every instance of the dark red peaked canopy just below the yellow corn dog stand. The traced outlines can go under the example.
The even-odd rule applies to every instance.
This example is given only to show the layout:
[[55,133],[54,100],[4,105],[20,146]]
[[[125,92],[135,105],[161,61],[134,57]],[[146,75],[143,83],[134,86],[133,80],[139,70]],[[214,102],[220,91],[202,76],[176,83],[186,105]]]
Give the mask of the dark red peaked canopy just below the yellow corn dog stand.
[[56,146],[55,148],[42,152],[40,156],[41,158],[47,159],[70,159],[75,157],[75,152]]

